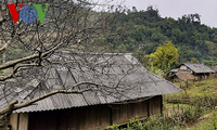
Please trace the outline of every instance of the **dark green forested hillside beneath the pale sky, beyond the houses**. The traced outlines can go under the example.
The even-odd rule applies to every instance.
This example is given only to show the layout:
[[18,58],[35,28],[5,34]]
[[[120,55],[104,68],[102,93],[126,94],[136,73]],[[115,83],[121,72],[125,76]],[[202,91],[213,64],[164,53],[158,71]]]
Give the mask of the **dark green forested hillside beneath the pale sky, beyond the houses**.
[[111,25],[117,36],[101,38],[101,41],[112,52],[136,53],[143,64],[144,55],[155,52],[165,41],[171,41],[178,49],[176,64],[200,62],[210,66],[216,63],[217,28],[201,24],[200,14],[183,14],[177,21],[159,14],[153,6],[148,6],[146,11],[132,8],[118,15],[119,24]]

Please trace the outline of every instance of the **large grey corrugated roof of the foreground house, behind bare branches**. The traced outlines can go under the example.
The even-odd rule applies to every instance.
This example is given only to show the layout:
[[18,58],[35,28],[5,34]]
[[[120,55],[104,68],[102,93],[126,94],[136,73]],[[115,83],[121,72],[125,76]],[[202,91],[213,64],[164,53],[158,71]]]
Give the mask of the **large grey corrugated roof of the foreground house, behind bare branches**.
[[[82,94],[55,94],[20,108],[16,113],[117,103],[182,91],[146,70],[131,54],[56,52],[50,61],[62,64],[49,66],[43,63],[44,66],[23,70],[22,78],[1,82],[0,108],[5,107],[11,101],[26,102],[54,89],[69,89],[80,81],[92,81],[112,88],[82,84],[75,87],[74,90],[90,87],[91,91]],[[118,82],[119,86],[115,88]]]

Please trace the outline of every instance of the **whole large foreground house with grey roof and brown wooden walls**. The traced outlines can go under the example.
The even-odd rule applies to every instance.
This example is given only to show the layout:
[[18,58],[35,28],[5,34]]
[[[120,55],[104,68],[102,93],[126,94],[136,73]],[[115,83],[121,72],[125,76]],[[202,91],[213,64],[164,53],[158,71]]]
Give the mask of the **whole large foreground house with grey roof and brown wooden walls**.
[[[87,57],[88,56],[88,57]],[[67,57],[67,58],[65,58]],[[98,70],[85,67],[89,61],[108,63],[108,66]],[[37,72],[38,78],[47,72],[42,80],[36,77],[9,79],[0,84],[0,108],[11,101],[22,103],[29,99],[44,94],[48,90],[59,89],[61,86],[71,87],[80,81],[94,81],[112,84],[126,74],[133,65],[131,73],[126,75],[117,88],[97,88],[82,94],[55,94],[41,100],[34,105],[15,110],[10,123],[13,130],[97,130],[106,126],[126,125],[138,116],[145,119],[159,114],[163,109],[163,94],[181,92],[182,90],[169,81],[146,70],[131,54],[77,54],[72,52],[56,52],[51,60],[55,62],[71,61],[68,67],[46,66],[24,70],[23,75]],[[79,62],[77,60],[80,60]],[[73,62],[75,61],[75,62]],[[106,72],[101,74],[100,70]],[[74,88],[80,90],[88,86]]]

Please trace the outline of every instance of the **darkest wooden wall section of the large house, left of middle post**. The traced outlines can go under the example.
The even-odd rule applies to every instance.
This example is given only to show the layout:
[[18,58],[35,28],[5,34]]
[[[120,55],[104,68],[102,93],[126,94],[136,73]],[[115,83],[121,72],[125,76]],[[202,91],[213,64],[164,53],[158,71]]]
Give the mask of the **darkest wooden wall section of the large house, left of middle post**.
[[30,113],[29,118],[29,130],[95,130],[110,126],[110,107],[95,105]]

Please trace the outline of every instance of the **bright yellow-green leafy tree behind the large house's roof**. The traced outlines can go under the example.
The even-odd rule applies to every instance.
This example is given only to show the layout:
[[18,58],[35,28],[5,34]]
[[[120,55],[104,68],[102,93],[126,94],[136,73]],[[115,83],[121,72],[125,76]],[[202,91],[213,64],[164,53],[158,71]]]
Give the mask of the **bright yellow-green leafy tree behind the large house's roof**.
[[166,75],[170,70],[170,66],[179,57],[179,54],[171,41],[166,41],[164,46],[157,47],[156,52],[151,53],[150,56],[153,60],[154,67],[162,69]]

